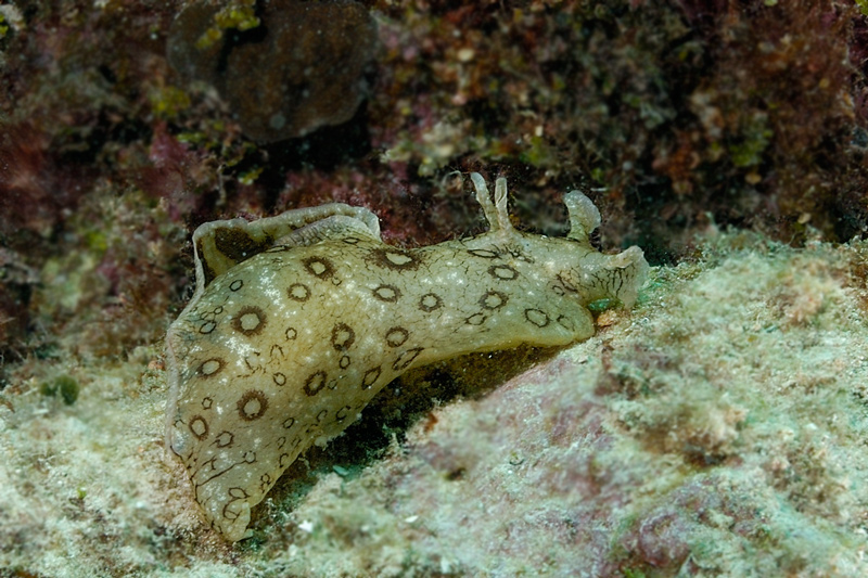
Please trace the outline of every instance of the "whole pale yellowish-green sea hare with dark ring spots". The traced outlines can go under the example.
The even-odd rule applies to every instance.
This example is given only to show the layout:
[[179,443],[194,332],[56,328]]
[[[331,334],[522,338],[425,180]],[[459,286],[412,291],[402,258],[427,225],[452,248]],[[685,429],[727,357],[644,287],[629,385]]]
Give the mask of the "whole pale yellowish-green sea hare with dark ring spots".
[[564,196],[566,237],[525,234],[471,179],[488,232],[404,249],[376,216],[329,204],[196,229],[196,290],[166,336],[167,445],[229,541],[312,444],[324,442],[405,371],[464,354],[562,346],[593,335],[587,304],[629,307],[648,269],[639,247],[595,251],[600,213]]

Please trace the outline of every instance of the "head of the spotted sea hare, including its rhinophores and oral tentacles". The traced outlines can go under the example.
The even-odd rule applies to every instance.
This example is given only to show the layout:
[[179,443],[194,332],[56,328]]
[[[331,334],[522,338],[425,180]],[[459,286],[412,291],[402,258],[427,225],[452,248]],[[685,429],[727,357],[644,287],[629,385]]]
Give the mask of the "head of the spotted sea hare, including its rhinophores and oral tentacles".
[[544,267],[558,293],[574,295],[586,305],[613,299],[625,307],[633,306],[648,273],[648,262],[637,246],[616,255],[604,255],[591,246],[588,237],[600,226],[600,211],[590,198],[578,191],[564,195],[570,215],[570,233],[565,239],[524,235],[509,220],[506,179],[501,177],[495,182],[493,202],[482,176],[473,172],[470,178],[490,224],[489,234],[526,245],[526,253],[538,256],[537,264]]

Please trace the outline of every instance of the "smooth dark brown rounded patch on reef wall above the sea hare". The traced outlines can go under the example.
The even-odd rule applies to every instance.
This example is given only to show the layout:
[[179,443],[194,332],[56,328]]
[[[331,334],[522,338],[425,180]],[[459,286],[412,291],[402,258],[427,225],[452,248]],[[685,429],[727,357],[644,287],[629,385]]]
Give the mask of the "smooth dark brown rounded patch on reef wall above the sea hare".
[[221,31],[220,14],[202,2],[184,9],[168,57],[186,77],[212,84],[247,137],[275,142],[353,118],[378,46],[363,5],[278,0]]

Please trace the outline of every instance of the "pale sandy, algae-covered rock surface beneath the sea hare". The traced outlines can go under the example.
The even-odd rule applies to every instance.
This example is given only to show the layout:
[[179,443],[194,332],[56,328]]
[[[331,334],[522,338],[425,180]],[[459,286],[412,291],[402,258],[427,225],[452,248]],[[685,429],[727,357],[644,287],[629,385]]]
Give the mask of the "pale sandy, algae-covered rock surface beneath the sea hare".
[[[0,404],[4,575],[868,571],[868,245],[700,247],[586,343],[393,384],[235,545],[166,460],[156,344],[67,368],[72,403],[21,367]],[[396,426],[431,382],[462,394],[405,396],[418,419]]]

